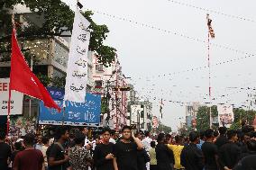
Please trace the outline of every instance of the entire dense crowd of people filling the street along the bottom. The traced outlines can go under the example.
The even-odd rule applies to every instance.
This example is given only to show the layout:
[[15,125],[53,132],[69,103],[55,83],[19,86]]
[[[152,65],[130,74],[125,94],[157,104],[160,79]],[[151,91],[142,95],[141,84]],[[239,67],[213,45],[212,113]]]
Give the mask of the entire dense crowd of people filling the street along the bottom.
[[192,131],[187,137],[148,131],[56,128],[54,138],[26,134],[9,141],[0,131],[0,170],[256,170],[256,131]]

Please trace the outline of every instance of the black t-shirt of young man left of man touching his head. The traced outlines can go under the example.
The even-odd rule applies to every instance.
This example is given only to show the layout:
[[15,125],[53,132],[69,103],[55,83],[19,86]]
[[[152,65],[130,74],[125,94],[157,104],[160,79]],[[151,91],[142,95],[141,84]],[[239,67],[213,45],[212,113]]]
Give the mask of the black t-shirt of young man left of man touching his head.
[[98,144],[94,152],[94,163],[97,170],[114,170],[113,160],[105,159],[108,154],[114,154],[114,144]]

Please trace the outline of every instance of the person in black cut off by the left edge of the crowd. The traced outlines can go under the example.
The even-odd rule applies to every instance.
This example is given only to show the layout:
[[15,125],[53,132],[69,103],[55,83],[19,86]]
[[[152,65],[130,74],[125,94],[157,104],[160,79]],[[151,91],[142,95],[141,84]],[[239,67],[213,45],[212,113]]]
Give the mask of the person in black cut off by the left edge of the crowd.
[[0,169],[8,169],[8,158],[12,155],[11,147],[5,143],[5,131],[0,130]]

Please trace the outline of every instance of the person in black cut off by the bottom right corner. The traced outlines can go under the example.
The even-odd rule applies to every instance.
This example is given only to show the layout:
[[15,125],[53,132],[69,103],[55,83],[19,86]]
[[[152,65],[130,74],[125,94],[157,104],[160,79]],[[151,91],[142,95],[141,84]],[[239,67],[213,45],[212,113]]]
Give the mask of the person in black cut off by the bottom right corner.
[[233,170],[254,170],[256,169],[256,141],[250,140],[247,142],[249,154],[242,158],[241,161],[233,168]]

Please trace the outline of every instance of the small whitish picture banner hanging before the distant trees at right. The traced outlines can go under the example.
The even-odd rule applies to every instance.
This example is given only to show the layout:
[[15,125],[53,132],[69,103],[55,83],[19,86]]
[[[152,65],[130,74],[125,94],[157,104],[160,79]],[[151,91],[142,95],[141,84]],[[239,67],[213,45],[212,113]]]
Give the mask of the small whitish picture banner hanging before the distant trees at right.
[[230,128],[233,123],[233,106],[217,105],[217,111],[219,126]]

